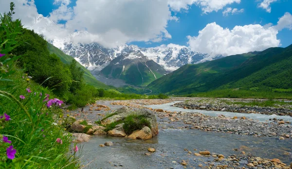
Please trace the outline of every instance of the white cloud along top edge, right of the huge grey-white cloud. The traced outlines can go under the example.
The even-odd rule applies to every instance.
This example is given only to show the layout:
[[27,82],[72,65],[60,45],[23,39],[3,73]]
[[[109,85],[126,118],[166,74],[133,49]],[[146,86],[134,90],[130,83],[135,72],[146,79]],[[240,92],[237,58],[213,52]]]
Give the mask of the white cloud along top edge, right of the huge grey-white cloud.
[[240,0],[168,0],[170,8],[174,11],[188,10],[192,4],[195,4],[200,6],[205,14],[217,12],[232,3],[240,3]]

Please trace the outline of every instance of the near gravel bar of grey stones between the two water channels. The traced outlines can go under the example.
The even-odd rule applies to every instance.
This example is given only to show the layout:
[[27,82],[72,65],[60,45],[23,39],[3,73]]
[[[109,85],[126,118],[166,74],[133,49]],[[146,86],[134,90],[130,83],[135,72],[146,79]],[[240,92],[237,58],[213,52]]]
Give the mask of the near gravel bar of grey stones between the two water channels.
[[[157,110],[156,110],[157,111]],[[160,111],[160,110],[159,110]],[[156,112],[159,118],[168,123],[183,123],[183,127],[202,131],[229,133],[237,135],[269,136],[279,139],[292,137],[289,122],[274,119],[271,122],[259,122],[245,117],[207,116],[197,112]]]

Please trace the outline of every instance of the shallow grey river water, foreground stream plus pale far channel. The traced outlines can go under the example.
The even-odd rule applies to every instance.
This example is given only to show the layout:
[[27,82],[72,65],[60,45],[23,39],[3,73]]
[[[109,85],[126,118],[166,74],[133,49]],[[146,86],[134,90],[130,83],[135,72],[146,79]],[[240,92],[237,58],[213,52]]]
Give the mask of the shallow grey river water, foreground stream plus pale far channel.
[[[172,104],[151,105],[150,107],[171,111],[190,111],[179,110],[177,109],[178,107],[169,107]],[[200,113],[202,112],[200,111]],[[212,114],[212,111],[204,112],[204,114],[217,116],[216,113]],[[230,113],[220,112],[219,114],[234,116]],[[250,117],[248,115],[251,114],[244,116]],[[236,116],[240,117],[239,115]],[[264,120],[264,118],[266,117],[258,119]],[[205,165],[204,162],[214,160],[212,156],[197,157],[193,154],[194,152],[205,150],[223,154],[225,157],[244,151],[251,152],[253,155],[262,158],[279,158],[287,164],[290,164],[292,160],[292,141],[290,139],[279,141],[271,137],[232,135],[187,129],[162,129],[161,126],[164,125],[164,122],[159,118],[158,122],[160,123],[159,135],[151,140],[127,140],[111,136],[92,136],[89,142],[84,142],[80,145],[83,147],[81,152],[83,156],[81,159],[82,164],[90,163],[87,166],[88,169],[183,169],[179,162],[185,160],[188,162],[187,168],[198,168],[199,164]],[[113,142],[113,146],[99,147],[100,144],[104,144],[106,141]],[[156,152],[150,156],[145,155],[148,147],[155,148]],[[188,154],[184,149],[191,151],[192,154]],[[197,149],[197,151],[194,151],[194,149]],[[238,150],[235,151],[234,149]]]

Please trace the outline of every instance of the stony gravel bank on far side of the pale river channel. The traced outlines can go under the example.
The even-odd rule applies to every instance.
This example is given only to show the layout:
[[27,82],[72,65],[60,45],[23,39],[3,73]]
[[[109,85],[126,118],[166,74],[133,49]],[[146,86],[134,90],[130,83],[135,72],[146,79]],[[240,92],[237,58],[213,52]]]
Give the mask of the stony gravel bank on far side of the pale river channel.
[[[247,106],[240,104],[226,104],[225,102],[214,100],[190,100],[175,103],[173,106],[181,107],[184,109],[201,109],[210,111],[226,111],[235,113],[258,113],[265,115],[278,115],[278,116],[292,116],[291,106],[283,107],[260,107],[260,106]],[[279,105],[280,106],[280,105]]]

